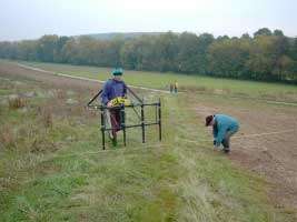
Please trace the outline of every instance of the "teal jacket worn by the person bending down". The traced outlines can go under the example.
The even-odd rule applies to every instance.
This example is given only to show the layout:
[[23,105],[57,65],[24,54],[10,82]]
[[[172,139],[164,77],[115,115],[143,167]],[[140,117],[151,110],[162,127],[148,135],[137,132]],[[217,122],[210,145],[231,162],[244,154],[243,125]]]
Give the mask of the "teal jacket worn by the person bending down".
[[219,147],[227,132],[236,133],[239,129],[239,123],[235,118],[227,114],[216,114],[212,133],[216,145]]

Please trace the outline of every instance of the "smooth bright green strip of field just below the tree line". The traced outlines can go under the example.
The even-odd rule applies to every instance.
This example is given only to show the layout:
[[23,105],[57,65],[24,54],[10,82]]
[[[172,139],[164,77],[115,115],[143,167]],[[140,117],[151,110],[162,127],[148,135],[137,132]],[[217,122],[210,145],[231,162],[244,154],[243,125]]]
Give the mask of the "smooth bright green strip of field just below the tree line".
[[[27,65],[96,80],[110,78],[111,69],[85,65],[52,64],[39,62],[21,62]],[[168,90],[169,83],[178,81],[181,91],[216,95],[232,95],[297,102],[297,87],[278,83],[215,79],[201,75],[186,75],[161,72],[125,71],[125,80],[132,85]]]

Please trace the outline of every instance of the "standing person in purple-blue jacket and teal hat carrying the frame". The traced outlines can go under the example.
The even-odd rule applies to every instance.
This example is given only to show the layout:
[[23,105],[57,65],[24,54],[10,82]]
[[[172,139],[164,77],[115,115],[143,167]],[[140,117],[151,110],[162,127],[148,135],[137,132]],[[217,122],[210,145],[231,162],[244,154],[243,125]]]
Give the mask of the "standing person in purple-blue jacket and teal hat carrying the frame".
[[[101,102],[102,104],[111,108],[111,100],[118,97],[126,97],[127,85],[122,81],[122,69],[117,68],[112,71],[112,79],[106,81],[102,93]],[[109,134],[113,145],[117,145],[117,132],[120,130],[120,110],[119,109],[108,109],[106,112],[107,124],[112,128]]]

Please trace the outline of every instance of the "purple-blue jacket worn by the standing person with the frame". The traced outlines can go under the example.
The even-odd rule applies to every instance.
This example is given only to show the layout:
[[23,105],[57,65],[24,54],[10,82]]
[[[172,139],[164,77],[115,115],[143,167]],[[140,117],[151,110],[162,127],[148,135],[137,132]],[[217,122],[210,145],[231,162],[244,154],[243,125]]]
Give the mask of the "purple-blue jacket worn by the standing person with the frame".
[[110,79],[106,81],[101,94],[101,101],[107,104],[110,100],[117,97],[125,97],[127,93],[127,85],[123,81]]

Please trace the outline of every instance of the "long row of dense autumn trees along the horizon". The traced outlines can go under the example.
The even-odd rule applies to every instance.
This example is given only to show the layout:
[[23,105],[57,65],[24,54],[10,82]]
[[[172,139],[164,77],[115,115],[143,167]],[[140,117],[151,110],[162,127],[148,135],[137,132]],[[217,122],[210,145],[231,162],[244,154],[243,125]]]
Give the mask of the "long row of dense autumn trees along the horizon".
[[0,58],[297,82],[297,38],[267,28],[240,38],[189,32],[110,40],[43,36],[0,42]]

